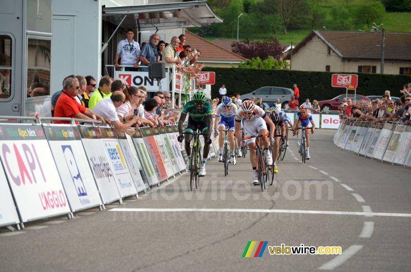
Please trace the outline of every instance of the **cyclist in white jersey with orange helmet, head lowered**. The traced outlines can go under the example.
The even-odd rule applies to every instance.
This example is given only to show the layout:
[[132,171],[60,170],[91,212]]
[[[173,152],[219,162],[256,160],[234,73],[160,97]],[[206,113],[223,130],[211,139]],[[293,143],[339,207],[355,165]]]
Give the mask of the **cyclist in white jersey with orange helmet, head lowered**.
[[[242,121],[242,128],[244,129],[245,136],[252,136],[256,133],[266,134],[267,124],[270,127],[270,136],[273,138],[275,126],[267,113],[255,105],[251,100],[246,100],[241,103],[241,108],[237,110],[235,115],[235,134],[238,141],[241,141],[240,123]],[[253,180],[254,185],[258,185],[258,172],[257,172],[257,160],[255,151],[255,138],[246,139],[247,145],[250,147],[250,161],[253,167]],[[261,138],[263,144],[264,157],[267,164],[272,165],[273,158],[270,153],[270,140],[267,137]]]

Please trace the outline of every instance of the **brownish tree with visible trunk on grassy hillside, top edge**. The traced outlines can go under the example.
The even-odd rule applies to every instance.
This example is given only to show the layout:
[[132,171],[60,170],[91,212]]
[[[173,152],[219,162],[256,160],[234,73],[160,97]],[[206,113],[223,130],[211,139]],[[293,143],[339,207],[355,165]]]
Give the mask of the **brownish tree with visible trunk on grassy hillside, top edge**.
[[267,12],[276,12],[281,18],[284,34],[292,23],[298,21],[308,10],[307,0],[265,0]]

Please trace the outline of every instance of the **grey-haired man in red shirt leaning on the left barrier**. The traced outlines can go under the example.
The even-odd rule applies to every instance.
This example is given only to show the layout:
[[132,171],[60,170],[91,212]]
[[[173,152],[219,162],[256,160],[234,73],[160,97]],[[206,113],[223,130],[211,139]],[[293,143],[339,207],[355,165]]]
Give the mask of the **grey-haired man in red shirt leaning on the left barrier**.
[[[80,89],[79,80],[76,77],[69,77],[63,83],[63,92],[60,95],[54,108],[54,117],[68,117],[85,120],[99,120],[106,122],[102,117],[98,116],[94,111],[80,105],[74,97],[76,97]],[[54,120],[55,124],[70,124],[69,121]],[[77,124],[77,122],[76,122]]]

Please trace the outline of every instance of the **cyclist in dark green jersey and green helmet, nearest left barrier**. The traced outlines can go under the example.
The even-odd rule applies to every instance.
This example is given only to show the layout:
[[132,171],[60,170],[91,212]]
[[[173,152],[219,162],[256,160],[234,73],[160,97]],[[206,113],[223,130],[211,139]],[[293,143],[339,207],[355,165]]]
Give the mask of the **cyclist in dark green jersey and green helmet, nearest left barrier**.
[[182,142],[184,139],[185,152],[187,152],[188,161],[186,165],[186,170],[190,170],[190,158],[191,158],[191,146],[190,142],[193,139],[193,135],[183,133],[183,123],[185,118],[189,114],[189,123],[184,132],[193,133],[200,129],[201,133],[207,132],[204,137],[204,149],[202,163],[198,175],[200,177],[206,176],[206,163],[207,157],[209,156],[210,144],[211,144],[211,132],[213,129],[213,112],[211,110],[211,104],[206,101],[206,94],[202,91],[197,91],[193,95],[193,100],[187,102],[182,111],[181,116],[178,121],[178,141]]

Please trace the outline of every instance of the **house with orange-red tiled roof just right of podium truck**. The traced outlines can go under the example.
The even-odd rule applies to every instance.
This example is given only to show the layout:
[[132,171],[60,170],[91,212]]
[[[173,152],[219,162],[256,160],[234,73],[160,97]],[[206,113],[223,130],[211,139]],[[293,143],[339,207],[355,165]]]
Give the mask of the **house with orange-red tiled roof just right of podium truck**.
[[184,35],[186,45],[201,51],[198,62],[204,63],[206,67],[237,67],[240,62],[246,61],[245,57],[215,45],[193,32],[185,30]]

